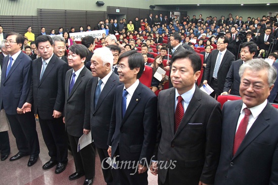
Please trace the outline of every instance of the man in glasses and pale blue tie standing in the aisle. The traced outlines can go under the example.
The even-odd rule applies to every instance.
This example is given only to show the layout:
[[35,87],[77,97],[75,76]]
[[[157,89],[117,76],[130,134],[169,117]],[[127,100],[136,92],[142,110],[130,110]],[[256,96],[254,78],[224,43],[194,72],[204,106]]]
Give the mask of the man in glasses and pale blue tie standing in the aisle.
[[210,94],[216,98],[223,92],[226,75],[235,55],[227,51],[228,38],[220,36],[217,40],[217,50],[213,50],[205,69],[203,84],[209,84],[214,91]]

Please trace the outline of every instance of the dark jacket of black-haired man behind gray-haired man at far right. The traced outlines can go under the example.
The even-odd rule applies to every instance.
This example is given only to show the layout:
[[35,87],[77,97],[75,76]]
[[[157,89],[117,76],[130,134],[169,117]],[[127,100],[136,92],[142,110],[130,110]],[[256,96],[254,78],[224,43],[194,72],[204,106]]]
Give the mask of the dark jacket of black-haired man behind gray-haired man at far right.
[[240,96],[241,78],[239,75],[239,71],[242,64],[243,61],[241,59],[231,63],[228,74],[226,76],[223,92],[228,92],[230,89],[230,95]]

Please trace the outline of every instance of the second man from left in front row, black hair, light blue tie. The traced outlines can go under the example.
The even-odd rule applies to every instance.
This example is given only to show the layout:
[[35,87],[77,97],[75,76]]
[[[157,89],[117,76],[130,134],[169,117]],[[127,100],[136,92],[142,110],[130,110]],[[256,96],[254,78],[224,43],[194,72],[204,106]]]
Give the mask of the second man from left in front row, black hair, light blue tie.
[[42,169],[50,169],[58,163],[55,173],[61,173],[68,162],[65,124],[61,117],[68,64],[54,55],[52,45],[52,38],[48,35],[36,38],[41,57],[33,61],[32,84],[24,106],[30,109],[32,105],[35,114],[38,114],[43,140],[51,157]]

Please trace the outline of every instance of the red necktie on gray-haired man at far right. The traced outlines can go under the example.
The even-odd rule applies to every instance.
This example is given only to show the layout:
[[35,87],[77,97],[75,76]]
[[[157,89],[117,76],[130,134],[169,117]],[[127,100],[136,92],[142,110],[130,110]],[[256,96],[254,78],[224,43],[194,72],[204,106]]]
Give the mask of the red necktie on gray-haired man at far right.
[[233,156],[238,151],[245,135],[246,135],[246,129],[249,121],[249,116],[251,115],[251,111],[248,108],[244,109],[244,118],[241,120],[238,131],[235,135],[235,141],[234,141],[234,148],[233,148]]

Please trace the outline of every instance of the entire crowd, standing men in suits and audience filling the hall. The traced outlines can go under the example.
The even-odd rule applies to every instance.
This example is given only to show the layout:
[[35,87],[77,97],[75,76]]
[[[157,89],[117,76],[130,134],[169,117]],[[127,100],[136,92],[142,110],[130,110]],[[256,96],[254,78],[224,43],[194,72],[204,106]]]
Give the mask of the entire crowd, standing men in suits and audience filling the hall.
[[[94,30],[106,33],[79,43],[74,27],[49,34],[42,27],[35,37],[31,26],[23,36],[0,25],[2,161],[10,125],[18,149],[10,161],[37,162],[37,115],[50,156],[42,169],[63,172],[69,147],[76,169],[69,180],[94,183],[97,152],[107,184],[148,184],[148,170],[165,185],[278,184],[278,111],[270,105],[278,103],[278,14],[247,21],[150,14],[87,25]],[[139,80],[146,68],[150,87]],[[227,94],[242,100],[221,110],[217,97]],[[83,134],[94,143],[77,152]]]

